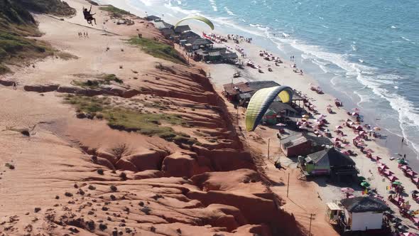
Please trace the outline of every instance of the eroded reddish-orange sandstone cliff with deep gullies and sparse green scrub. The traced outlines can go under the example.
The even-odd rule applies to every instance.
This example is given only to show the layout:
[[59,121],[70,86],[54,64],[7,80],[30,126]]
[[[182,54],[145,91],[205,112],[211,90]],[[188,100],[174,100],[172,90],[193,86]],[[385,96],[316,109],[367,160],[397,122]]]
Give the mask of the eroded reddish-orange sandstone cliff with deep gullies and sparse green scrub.
[[97,76],[71,60],[1,80],[0,235],[302,235],[203,70],[129,50],[124,85],[70,85]]

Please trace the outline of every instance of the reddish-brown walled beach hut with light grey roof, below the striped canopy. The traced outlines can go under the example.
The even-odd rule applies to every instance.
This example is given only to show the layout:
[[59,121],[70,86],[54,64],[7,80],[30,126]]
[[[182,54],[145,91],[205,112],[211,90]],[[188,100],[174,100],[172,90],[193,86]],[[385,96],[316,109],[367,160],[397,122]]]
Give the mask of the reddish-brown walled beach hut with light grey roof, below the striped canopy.
[[281,150],[285,156],[307,156],[332,146],[333,143],[330,139],[304,133],[294,134],[281,139]]

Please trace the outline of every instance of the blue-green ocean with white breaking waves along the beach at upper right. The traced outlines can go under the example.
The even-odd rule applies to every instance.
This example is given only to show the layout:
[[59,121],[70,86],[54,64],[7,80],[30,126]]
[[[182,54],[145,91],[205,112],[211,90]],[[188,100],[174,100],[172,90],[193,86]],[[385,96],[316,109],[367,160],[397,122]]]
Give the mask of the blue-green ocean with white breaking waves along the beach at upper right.
[[[315,78],[325,92],[361,108],[366,122],[419,153],[419,2],[284,0],[114,0],[175,21],[210,18],[222,33],[253,38]],[[402,153],[397,145],[393,152]]]

